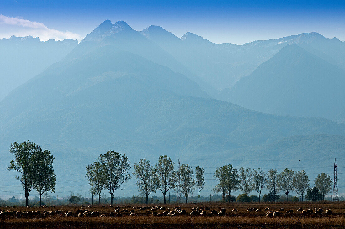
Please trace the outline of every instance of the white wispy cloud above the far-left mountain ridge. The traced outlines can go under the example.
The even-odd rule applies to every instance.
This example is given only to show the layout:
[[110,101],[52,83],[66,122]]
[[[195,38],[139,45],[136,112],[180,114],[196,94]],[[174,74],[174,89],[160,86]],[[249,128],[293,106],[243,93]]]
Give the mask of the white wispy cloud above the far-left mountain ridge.
[[77,33],[69,31],[63,32],[56,29],[49,29],[45,24],[36,21],[29,21],[21,18],[11,18],[0,14],[0,36],[8,38],[11,35],[17,37],[25,37],[31,35],[32,37],[39,37],[41,41],[49,39],[63,40],[63,39],[78,39],[82,37]]

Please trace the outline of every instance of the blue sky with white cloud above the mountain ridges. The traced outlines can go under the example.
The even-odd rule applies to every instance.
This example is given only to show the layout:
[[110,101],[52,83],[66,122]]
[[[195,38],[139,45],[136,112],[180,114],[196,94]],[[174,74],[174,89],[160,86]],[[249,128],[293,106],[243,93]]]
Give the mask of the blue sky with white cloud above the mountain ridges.
[[110,19],[126,21],[138,31],[159,25],[178,37],[192,32],[215,43],[243,44],[303,32],[345,41],[345,1],[0,0],[0,15],[0,38],[80,40]]

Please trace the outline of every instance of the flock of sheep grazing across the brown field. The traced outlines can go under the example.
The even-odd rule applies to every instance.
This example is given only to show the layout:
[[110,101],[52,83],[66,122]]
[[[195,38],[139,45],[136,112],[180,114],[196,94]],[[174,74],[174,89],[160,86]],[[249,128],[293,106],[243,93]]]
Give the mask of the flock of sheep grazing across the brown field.
[[[28,206],[27,208],[30,208],[32,206]],[[102,208],[105,208],[106,206],[102,206]],[[1,208],[1,206],[0,206]],[[6,208],[10,208],[9,206],[6,206]],[[12,208],[16,208],[16,206],[13,206]],[[43,205],[43,206],[39,206],[39,208],[49,208],[49,206],[47,205]],[[50,206],[50,208],[55,208],[54,205]],[[91,210],[87,210],[85,209],[86,206],[85,205],[81,205],[80,209],[77,210],[76,215],[78,217],[92,217],[92,216],[97,216],[97,217],[106,217],[108,216],[107,214],[101,214],[99,211],[91,211]],[[92,208],[92,206],[88,206],[88,208]],[[109,208],[113,208],[112,205],[109,206]],[[131,209],[130,209],[131,208]],[[130,209],[130,210],[129,210]],[[145,206],[141,206],[141,207],[132,207],[132,206],[128,206],[127,209],[122,209],[122,213],[129,213],[130,216],[137,216],[137,214],[135,214],[135,210],[139,210],[142,212],[145,212],[146,214],[150,214],[152,216],[157,216],[157,217],[161,217],[161,216],[175,216],[175,215],[187,215],[187,211],[185,209],[182,209],[181,207],[174,207],[172,209],[168,208],[166,209],[165,207],[161,207],[161,206],[155,206],[152,207],[150,210],[150,207],[145,207]],[[158,213],[157,211],[163,211],[162,213]],[[278,211],[269,211],[270,209],[268,207],[266,207],[264,209],[264,211],[268,211],[266,214],[266,217],[278,217],[280,216],[281,212],[284,212],[284,208],[280,208]],[[207,211],[210,211],[210,213],[208,214]],[[237,209],[233,209],[231,210],[231,212],[237,212]],[[247,212],[262,212],[261,209],[257,209],[257,208],[248,208]],[[314,212],[315,211],[315,212]],[[322,208],[315,208],[313,211],[313,209],[307,209],[307,210],[303,210],[302,208],[298,208],[297,212],[301,212],[302,215],[306,215],[306,214],[315,214],[315,215],[321,215],[324,210]],[[219,212],[217,210],[210,210],[209,207],[200,207],[200,209],[198,207],[194,207],[191,209],[190,212],[190,216],[206,216],[206,215],[210,215],[210,216],[225,216],[226,215],[226,209],[225,208],[219,208]],[[122,217],[123,214],[120,212],[120,207],[115,207],[115,211],[114,212],[110,212],[109,216],[110,217]],[[290,214],[293,213],[292,209],[289,209],[286,211],[286,214]],[[332,210],[331,209],[326,209],[325,210],[325,214],[331,214]],[[33,210],[33,211],[10,211],[10,210],[1,210],[0,211],[0,217],[3,216],[14,216],[16,218],[22,218],[22,217],[32,217],[32,216],[54,216],[54,214],[58,214],[58,215],[62,215],[62,211],[61,210],[56,210],[56,211],[48,211],[46,209],[43,210],[43,212],[37,211],[37,210]],[[73,216],[73,212],[72,211],[67,211],[65,212],[65,216]]]

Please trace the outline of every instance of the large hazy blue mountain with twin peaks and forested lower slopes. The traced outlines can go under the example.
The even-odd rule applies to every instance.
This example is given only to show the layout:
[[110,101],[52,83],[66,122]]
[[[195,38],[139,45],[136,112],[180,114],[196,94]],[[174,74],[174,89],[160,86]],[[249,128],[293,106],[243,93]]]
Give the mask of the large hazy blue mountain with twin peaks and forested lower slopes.
[[[284,155],[305,159],[301,152],[309,152],[308,159],[342,153],[336,150],[344,144],[345,124],[266,114],[211,98],[207,83],[193,81],[188,65],[152,37],[125,22],[105,21],[65,58],[9,93],[0,102],[0,173],[13,176],[6,171],[8,149],[24,140],[51,150],[58,179],[66,173],[85,179],[86,165],[110,149],[127,153],[133,163],[140,158],[155,163],[163,154],[174,161],[185,158],[182,163],[203,165],[208,173],[225,163],[257,167],[258,158],[280,168],[289,163],[268,160]],[[194,34],[175,41],[210,43]],[[327,144],[317,147],[316,141]],[[220,161],[210,165],[193,159]],[[324,171],[313,161],[304,163],[307,172]],[[214,185],[208,180],[207,192]],[[126,193],[137,190],[131,186]]]

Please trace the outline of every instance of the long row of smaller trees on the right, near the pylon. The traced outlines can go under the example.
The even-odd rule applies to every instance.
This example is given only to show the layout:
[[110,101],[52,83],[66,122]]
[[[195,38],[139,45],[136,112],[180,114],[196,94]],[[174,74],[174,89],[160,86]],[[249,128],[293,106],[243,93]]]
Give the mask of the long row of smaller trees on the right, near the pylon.
[[[269,193],[265,196],[270,201],[279,199],[278,193],[284,192],[286,200],[291,191],[295,191],[299,195],[299,201],[303,201],[305,191],[310,186],[310,181],[304,170],[293,171],[288,168],[278,173],[276,169],[270,169],[268,173],[262,168],[251,170],[250,168],[240,168],[239,171],[233,168],[233,165],[225,165],[216,169],[215,180],[218,185],[214,188],[215,192],[220,193],[225,201],[233,202],[230,193],[240,189],[245,196],[250,192],[256,191],[259,196],[265,188]],[[315,178],[315,188],[320,193],[322,200],[325,195],[332,190],[331,177],[325,173],[319,174]],[[315,192],[315,189],[314,189]]]

